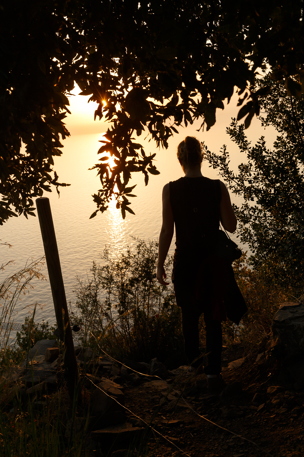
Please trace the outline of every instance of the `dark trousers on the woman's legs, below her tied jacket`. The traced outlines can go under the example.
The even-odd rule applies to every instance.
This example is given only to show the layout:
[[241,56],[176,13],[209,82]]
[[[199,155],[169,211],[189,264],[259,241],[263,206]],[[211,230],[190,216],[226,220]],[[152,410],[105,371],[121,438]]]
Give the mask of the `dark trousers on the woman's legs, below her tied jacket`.
[[[211,306],[196,300],[194,292],[185,290],[185,285],[174,282],[176,303],[181,308],[182,329],[185,340],[185,355],[189,365],[194,367],[202,362],[202,358],[193,362],[201,356],[199,350],[199,318],[204,314],[206,325],[206,353],[207,365],[204,367],[206,374],[219,374],[222,370],[222,324],[212,317]],[[192,292],[192,293],[191,293]]]

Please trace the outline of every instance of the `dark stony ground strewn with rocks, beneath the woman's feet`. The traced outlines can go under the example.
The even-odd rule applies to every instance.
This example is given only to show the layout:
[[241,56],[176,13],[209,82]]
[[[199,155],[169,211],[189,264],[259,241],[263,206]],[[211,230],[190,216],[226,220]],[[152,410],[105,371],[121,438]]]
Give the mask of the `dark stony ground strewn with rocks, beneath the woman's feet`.
[[[50,342],[43,340],[41,345],[45,350]],[[52,351],[53,357],[59,355],[55,361]],[[240,344],[224,347],[222,375],[227,387],[218,390],[207,388],[204,374],[190,375],[186,367],[168,372],[157,359],[150,364],[125,360],[127,368],[90,350],[76,347],[76,352],[81,371],[88,372],[82,396],[85,404],[91,399],[92,405],[87,437],[90,457],[124,457],[129,447],[135,456],[139,442],[144,443],[147,455],[155,457],[302,455],[304,383],[278,382],[281,375],[276,369],[269,372],[263,352],[246,357]],[[52,365],[60,373],[62,359],[56,347],[35,359],[35,368]],[[30,379],[22,372],[12,382],[19,383],[20,392],[40,408],[46,391],[51,398],[58,387],[56,379]],[[64,421],[67,434],[71,426],[82,426],[81,414],[76,425],[72,425],[71,412]]]

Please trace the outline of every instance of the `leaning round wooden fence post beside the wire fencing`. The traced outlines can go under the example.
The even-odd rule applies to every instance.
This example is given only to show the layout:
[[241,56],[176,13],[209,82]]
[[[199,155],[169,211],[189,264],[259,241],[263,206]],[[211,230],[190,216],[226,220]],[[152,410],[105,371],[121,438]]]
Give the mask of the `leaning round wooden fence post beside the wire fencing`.
[[77,381],[77,361],[49,199],[46,197],[37,198],[36,207],[46,255],[46,266],[50,278],[59,338],[62,342],[63,361],[67,369],[67,388],[70,399],[73,401]]

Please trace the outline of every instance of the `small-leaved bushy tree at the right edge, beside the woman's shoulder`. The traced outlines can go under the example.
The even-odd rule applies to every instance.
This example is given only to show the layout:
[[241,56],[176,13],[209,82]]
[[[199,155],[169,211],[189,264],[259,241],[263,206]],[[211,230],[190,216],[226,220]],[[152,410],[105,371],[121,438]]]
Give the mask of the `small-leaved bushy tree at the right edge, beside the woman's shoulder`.
[[284,85],[269,77],[260,83],[265,84],[271,86],[271,93],[262,104],[266,117],[260,119],[280,133],[273,149],[267,149],[263,136],[252,146],[244,124],[233,119],[227,133],[246,154],[246,161],[233,173],[225,145],[222,155],[208,152],[208,160],[219,168],[232,192],[245,200],[234,209],[238,236],[254,253],[250,264],[263,268],[277,284],[299,288],[304,266],[304,101],[288,96]]

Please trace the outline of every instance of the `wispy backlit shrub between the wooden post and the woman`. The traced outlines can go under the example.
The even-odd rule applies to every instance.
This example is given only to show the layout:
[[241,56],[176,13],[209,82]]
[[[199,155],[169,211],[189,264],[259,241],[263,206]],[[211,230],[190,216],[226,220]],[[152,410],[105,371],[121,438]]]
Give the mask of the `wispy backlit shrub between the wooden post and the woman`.
[[[103,251],[104,265],[93,262],[87,281],[77,278],[76,303],[69,313],[84,333],[82,344],[102,339],[103,349],[119,358],[150,361],[159,357],[180,361],[183,338],[180,308],[176,306],[173,287],[156,282],[158,242],[137,240],[135,252],[127,250],[111,259]],[[172,267],[167,258],[165,269]]]

